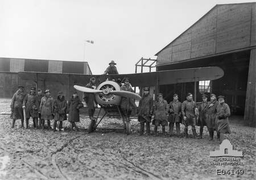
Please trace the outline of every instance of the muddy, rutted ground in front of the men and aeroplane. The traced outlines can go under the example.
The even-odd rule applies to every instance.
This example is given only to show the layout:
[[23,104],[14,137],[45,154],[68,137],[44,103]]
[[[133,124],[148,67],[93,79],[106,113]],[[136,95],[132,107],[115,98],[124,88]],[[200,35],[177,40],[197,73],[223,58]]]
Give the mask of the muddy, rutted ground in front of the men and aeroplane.
[[[10,99],[0,99],[0,113],[9,112],[9,105]],[[85,128],[89,119],[82,118],[78,123],[80,132],[53,132],[19,128],[20,120],[11,129],[9,116],[0,115],[0,179],[255,178],[255,128],[244,127],[239,117],[230,120],[232,134],[226,138],[234,149],[243,150],[244,165],[221,167],[210,165],[213,158],[209,152],[218,149],[219,144],[216,137],[208,141],[206,128],[204,139],[138,136],[139,123],[134,119],[133,133],[128,136],[102,130],[88,133]],[[122,127],[122,122],[106,119],[104,126]],[[196,130],[198,133],[199,128]],[[217,169],[237,168],[244,174],[217,175]]]

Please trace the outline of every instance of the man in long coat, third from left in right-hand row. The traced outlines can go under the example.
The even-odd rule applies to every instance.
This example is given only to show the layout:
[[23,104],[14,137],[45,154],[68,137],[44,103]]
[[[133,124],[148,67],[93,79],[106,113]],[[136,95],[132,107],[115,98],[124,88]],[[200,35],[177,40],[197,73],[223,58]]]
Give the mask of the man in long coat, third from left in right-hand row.
[[170,115],[168,117],[169,122],[169,136],[172,136],[174,132],[174,123],[176,125],[177,136],[180,137],[180,123],[182,119],[181,114],[181,106],[182,103],[179,102],[179,97],[177,94],[174,94],[174,100],[169,103],[169,112]]

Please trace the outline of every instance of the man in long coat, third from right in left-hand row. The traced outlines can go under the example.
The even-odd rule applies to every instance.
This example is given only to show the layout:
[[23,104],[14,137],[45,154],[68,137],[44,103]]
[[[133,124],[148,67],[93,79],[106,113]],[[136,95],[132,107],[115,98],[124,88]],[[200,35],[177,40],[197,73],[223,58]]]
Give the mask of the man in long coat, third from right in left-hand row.
[[51,120],[53,119],[54,100],[50,95],[51,93],[49,89],[47,89],[44,93],[46,94],[46,96],[43,97],[41,100],[40,112],[41,112],[43,128],[44,128],[44,121],[47,120],[47,128],[49,130],[51,129]]

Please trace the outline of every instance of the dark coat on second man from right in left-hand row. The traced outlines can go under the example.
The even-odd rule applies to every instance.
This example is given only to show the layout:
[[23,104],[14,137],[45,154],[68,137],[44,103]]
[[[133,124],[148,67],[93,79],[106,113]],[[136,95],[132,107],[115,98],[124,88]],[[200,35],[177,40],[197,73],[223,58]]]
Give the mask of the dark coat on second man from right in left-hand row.
[[57,99],[55,100],[53,104],[53,112],[54,112],[54,120],[67,120],[67,101],[65,100],[65,97],[63,96],[61,99],[58,95]]

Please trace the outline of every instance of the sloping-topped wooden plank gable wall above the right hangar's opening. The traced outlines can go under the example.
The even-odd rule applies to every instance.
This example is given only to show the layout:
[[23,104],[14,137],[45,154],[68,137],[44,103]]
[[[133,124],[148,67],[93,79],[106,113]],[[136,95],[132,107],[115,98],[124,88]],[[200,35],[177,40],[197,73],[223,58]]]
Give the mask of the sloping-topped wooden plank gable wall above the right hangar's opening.
[[255,5],[217,5],[158,53],[158,64],[255,45]]

